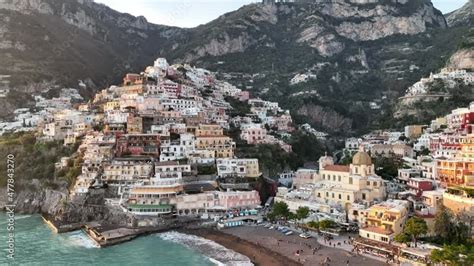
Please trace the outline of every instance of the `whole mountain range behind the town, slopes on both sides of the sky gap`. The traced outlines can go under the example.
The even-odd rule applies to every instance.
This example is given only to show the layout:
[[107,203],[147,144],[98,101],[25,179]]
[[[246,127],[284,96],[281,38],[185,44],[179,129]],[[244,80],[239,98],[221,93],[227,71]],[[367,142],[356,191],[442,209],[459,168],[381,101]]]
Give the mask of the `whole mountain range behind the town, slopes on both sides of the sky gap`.
[[[250,4],[193,29],[86,0],[0,0],[0,14],[0,75],[11,75],[4,84],[15,92],[0,98],[6,113],[34,90],[82,80],[88,94],[161,56],[205,66],[298,122],[341,134],[390,125],[395,99],[444,66],[472,25],[448,29],[429,0]],[[297,77],[308,78],[290,82]]]

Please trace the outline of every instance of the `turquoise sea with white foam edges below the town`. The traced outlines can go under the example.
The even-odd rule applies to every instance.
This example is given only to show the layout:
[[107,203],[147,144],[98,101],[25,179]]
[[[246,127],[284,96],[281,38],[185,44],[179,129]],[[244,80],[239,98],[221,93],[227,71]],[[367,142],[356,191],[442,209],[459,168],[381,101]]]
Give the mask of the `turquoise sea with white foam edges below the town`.
[[[38,215],[16,216],[15,260],[6,258],[7,220],[0,214],[0,265],[251,265],[214,242],[169,232],[98,248],[81,231],[55,234]],[[210,251],[210,252],[209,252]]]

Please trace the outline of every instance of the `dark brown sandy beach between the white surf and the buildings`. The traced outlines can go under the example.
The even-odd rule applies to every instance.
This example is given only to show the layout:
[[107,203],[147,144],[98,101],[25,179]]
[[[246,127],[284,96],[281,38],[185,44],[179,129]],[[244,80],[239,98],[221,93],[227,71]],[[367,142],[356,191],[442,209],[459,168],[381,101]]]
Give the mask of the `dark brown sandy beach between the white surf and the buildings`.
[[[256,265],[386,265],[367,257],[355,256],[346,250],[320,245],[315,238],[303,239],[297,234],[285,236],[263,226],[193,230],[187,233],[215,241],[246,255]],[[318,249],[314,251],[316,247]]]

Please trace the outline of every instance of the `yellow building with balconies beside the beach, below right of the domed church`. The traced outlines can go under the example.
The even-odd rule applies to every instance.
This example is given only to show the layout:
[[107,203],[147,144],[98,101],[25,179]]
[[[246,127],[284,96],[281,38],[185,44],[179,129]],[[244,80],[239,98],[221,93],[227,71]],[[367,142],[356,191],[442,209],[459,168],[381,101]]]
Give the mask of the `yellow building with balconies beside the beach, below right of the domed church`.
[[389,243],[403,231],[408,218],[409,203],[404,200],[388,200],[370,207],[365,223],[359,229],[363,238]]

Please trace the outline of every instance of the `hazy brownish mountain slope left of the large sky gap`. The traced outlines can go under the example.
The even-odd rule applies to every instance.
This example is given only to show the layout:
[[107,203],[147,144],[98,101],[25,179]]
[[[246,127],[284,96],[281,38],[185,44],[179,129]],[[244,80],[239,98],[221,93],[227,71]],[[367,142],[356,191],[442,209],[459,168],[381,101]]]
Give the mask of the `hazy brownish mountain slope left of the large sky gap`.
[[0,75],[14,91],[0,98],[3,115],[49,87],[118,82],[184,32],[87,0],[0,0],[0,18]]

